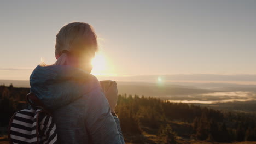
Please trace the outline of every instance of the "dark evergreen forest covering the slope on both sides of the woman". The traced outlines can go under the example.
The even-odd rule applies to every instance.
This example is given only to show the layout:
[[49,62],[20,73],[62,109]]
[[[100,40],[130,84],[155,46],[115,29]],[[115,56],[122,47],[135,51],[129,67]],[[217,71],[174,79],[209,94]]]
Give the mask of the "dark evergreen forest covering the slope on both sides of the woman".
[[[0,127],[7,128],[14,112],[26,109],[29,88],[0,86]],[[182,143],[256,141],[256,115],[171,103],[143,95],[120,94],[116,108],[125,142]],[[0,131],[0,137],[7,135]]]

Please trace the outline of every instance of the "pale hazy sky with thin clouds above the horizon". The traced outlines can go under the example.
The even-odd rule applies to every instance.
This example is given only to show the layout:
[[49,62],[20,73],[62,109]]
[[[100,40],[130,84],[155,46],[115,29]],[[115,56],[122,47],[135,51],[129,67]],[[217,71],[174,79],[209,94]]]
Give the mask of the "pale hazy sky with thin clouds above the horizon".
[[0,79],[28,80],[53,64],[69,22],[92,25],[92,74],[256,74],[256,1],[1,1]]

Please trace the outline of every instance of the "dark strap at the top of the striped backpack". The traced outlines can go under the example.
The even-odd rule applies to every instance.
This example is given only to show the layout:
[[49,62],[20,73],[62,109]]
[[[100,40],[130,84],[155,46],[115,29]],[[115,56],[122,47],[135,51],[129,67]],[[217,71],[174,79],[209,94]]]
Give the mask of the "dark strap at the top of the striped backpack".
[[33,92],[30,92],[27,94],[27,102],[28,104],[31,105],[31,107],[33,109],[42,109],[44,110],[46,113],[48,113],[49,115],[51,115],[51,111],[46,109],[45,105],[42,103],[42,101],[40,101],[40,99],[38,99],[38,97],[36,96],[36,94],[34,94]]

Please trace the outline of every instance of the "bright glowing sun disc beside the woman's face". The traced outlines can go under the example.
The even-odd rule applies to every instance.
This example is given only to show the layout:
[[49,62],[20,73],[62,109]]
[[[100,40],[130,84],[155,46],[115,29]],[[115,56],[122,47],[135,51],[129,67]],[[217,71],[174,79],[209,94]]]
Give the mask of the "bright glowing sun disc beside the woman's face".
[[92,70],[95,73],[103,73],[106,69],[106,58],[102,53],[97,53],[91,61]]

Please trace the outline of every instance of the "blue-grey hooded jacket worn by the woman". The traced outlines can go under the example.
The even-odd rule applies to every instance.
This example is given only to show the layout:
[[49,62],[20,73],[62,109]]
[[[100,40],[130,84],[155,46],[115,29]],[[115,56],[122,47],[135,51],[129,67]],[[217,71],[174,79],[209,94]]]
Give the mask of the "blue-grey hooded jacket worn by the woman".
[[53,111],[60,143],[125,143],[97,78],[72,66],[37,66],[31,92]]

